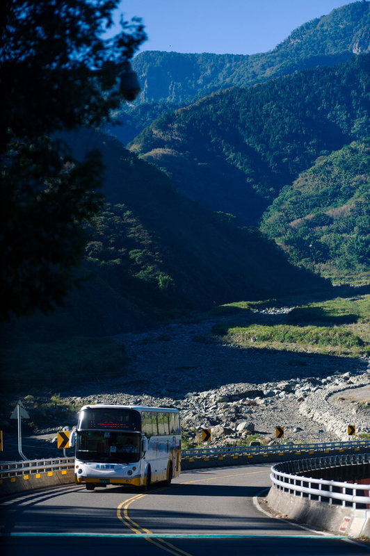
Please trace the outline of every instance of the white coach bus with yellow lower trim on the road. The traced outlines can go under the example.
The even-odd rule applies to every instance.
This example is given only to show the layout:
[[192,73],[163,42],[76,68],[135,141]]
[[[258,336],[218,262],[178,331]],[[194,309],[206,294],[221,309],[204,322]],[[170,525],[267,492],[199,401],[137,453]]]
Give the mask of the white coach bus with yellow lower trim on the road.
[[85,405],[75,432],[77,484],[86,489],[132,484],[147,489],[181,472],[178,409]]

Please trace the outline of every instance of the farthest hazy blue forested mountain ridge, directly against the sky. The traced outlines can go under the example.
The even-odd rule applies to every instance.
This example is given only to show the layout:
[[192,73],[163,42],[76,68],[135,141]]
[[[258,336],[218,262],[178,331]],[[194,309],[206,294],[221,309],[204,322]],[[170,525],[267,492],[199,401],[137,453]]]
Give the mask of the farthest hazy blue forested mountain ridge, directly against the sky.
[[134,59],[138,101],[117,113],[109,131],[124,145],[156,117],[231,86],[249,87],[297,70],[335,65],[369,51],[369,2],[343,6],[298,27],[272,51],[251,56],[144,51]]

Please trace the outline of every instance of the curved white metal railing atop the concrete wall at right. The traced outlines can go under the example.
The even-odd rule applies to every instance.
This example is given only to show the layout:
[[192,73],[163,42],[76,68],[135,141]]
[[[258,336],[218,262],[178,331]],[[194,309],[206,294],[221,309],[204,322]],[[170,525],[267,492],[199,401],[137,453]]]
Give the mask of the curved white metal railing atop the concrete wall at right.
[[[271,482],[276,489],[293,496],[307,497],[309,500],[328,502],[329,505],[351,505],[356,509],[358,505],[370,507],[370,484],[356,484],[324,479],[315,479],[305,475],[295,475],[322,468],[338,466],[353,466],[369,464],[370,454],[335,455],[328,457],[310,458],[295,461],[285,461],[271,468]],[[290,471],[290,473],[287,473]],[[357,494],[357,491],[362,491]],[[364,496],[365,493],[368,496]]]

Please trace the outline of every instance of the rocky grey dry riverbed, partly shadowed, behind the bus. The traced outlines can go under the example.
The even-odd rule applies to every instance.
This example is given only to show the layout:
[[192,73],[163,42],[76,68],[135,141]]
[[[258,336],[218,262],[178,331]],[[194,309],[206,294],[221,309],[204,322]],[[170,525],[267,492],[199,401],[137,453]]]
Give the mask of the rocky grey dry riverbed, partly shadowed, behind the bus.
[[[284,322],[288,312],[287,308],[259,311],[254,319]],[[211,427],[214,445],[246,443],[250,433],[266,443],[275,438],[276,426],[284,426],[288,441],[319,441],[320,430],[323,440],[345,439],[348,424],[356,425],[357,433],[370,432],[367,359],[220,343],[211,331],[222,321],[173,323],[117,336],[129,355],[125,376],[102,377],[61,392],[59,407],[175,406],[188,441],[196,443],[200,427]],[[50,426],[39,427],[38,434],[25,440],[29,457],[60,454],[55,448],[56,430],[75,422],[69,411],[64,418],[60,412],[57,420],[52,412],[49,417]]]

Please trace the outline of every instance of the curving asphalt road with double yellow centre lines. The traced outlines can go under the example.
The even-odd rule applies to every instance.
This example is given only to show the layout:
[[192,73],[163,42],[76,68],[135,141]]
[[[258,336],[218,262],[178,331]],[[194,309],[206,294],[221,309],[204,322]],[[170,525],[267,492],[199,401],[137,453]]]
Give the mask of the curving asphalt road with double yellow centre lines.
[[259,511],[253,498],[270,486],[269,472],[269,464],[187,471],[147,493],[71,485],[13,496],[1,505],[3,554],[370,555],[369,546]]

